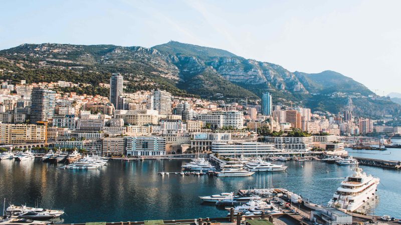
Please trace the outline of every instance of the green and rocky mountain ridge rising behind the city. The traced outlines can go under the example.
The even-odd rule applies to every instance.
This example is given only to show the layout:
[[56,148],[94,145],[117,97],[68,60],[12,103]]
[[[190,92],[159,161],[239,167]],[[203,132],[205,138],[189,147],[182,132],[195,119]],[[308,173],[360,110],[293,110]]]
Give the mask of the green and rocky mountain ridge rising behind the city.
[[78,93],[107,95],[107,89],[99,87],[99,82],[107,83],[112,72],[121,72],[127,91],[160,88],[174,95],[228,100],[248,96],[258,99],[262,92],[269,91],[275,102],[293,101],[313,110],[338,112],[352,108],[354,114],[366,116],[398,115],[401,111],[400,105],[378,97],[338,72],[291,72],[226,50],[177,41],[151,48],[22,44],[0,51],[0,68],[5,80],[93,84],[61,88]]

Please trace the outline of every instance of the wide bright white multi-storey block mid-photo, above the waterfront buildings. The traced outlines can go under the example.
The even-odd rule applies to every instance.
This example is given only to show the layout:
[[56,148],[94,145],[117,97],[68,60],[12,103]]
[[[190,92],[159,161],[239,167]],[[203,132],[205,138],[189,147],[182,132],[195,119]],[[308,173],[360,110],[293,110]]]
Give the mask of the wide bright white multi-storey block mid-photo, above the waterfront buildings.
[[212,111],[197,116],[198,120],[210,123],[212,128],[232,126],[235,129],[244,127],[244,114],[242,111]]

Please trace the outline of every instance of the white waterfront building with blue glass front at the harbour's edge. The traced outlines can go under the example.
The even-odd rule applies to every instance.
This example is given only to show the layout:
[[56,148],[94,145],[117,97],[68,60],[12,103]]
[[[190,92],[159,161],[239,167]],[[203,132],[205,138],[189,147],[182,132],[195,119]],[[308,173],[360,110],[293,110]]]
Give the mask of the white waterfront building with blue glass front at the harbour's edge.
[[165,155],[166,139],[158,136],[128,136],[125,139],[127,155]]

